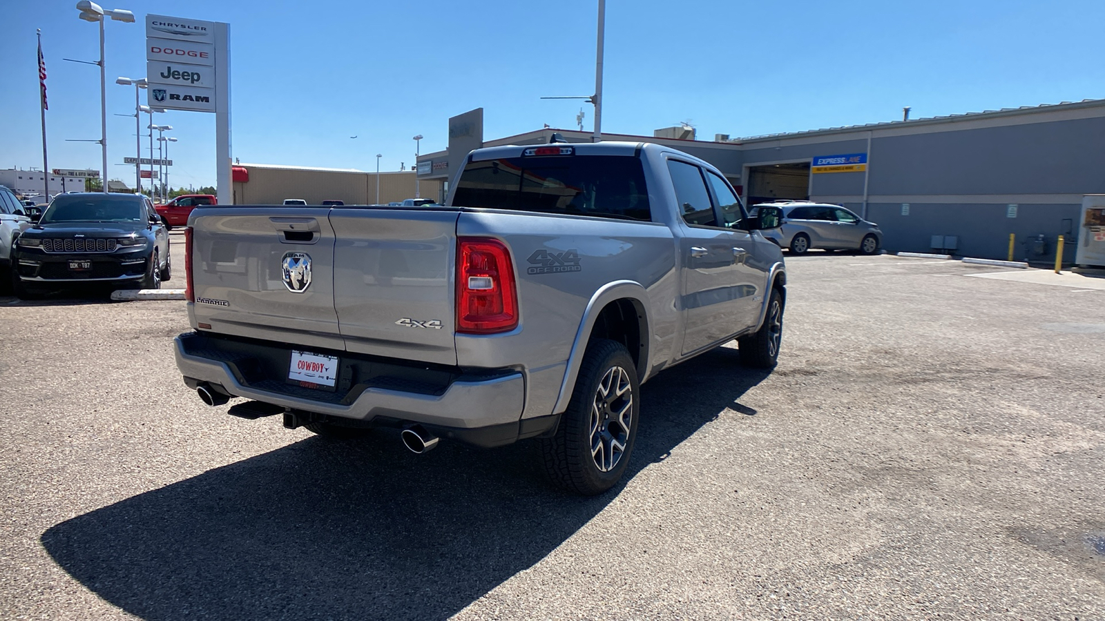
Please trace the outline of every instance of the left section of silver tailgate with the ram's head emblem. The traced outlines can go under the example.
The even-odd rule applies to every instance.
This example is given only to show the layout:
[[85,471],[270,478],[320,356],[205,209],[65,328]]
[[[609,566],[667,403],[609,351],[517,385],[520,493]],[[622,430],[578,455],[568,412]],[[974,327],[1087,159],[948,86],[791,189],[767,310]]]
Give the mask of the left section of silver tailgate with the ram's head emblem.
[[329,211],[238,207],[193,212],[196,322],[222,334],[344,349],[334,309]]

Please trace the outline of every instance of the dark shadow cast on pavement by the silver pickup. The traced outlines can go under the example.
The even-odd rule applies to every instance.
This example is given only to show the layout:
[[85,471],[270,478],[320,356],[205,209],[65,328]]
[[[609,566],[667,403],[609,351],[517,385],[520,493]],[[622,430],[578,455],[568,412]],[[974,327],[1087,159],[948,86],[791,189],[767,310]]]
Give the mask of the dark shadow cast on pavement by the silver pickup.
[[[725,408],[755,414],[735,401],[766,377],[723,348],[650,381],[625,480]],[[146,619],[443,619],[533,567],[622,490],[558,492],[534,449],[442,442],[414,455],[389,433],[311,438],[69,519],[41,543]]]

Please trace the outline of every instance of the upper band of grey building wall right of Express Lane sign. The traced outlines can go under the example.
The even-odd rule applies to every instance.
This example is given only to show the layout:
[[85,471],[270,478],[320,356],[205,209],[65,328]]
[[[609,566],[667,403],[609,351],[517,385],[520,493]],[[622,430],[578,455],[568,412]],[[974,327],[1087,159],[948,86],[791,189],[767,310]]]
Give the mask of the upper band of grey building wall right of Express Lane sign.
[[1105,192],[1105,118],[875,138],[871,150],[872,194]]

